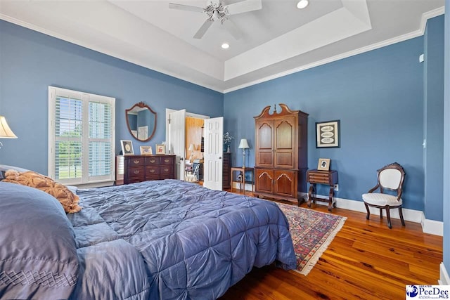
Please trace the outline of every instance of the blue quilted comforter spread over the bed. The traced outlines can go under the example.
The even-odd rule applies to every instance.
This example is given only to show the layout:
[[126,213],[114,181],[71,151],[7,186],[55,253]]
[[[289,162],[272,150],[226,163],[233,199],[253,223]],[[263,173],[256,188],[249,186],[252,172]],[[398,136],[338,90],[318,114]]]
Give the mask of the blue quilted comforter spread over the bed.
[[274,202],[184,181],[78,190],[73,299],[217,299],[252,267],[295,268]]

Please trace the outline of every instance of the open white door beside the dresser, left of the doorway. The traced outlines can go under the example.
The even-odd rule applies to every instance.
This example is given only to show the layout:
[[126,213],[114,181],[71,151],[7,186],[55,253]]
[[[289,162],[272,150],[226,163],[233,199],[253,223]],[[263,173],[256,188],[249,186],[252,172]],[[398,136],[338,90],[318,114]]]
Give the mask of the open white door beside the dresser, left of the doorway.
[[176,110],[168,114],[168,133],[166,134],[169,153],[176,155],[176,174],[184,180],[184,157],[186,141],[186,110]]

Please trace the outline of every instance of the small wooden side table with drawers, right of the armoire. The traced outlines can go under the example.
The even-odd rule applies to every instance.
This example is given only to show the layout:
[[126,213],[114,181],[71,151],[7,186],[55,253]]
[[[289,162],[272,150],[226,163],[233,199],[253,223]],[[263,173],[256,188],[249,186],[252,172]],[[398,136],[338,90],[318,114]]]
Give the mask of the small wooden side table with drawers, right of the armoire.
[[[328,201],[328,211],[331,211],[332,207],[336,207],[336,202],[333,201],[333,197],[335,194],[335,184],[338,183],[338,171],[309,170],[307,171],[307,182],[309,182],[308,207],[311,207],[311,201],[316,203],[316,200]],[[330,185],[328,199],[316,197],[316,184]]]

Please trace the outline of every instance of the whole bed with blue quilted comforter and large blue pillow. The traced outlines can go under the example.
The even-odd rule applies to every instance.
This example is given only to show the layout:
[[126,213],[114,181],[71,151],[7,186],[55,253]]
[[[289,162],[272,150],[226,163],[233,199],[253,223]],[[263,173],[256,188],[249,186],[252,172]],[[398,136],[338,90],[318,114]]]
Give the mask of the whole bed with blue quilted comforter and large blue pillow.
[[65,214],[0,182],[0,298],[217,299],[253,267],[295,268],[274,202],[176,180],[75,193]]

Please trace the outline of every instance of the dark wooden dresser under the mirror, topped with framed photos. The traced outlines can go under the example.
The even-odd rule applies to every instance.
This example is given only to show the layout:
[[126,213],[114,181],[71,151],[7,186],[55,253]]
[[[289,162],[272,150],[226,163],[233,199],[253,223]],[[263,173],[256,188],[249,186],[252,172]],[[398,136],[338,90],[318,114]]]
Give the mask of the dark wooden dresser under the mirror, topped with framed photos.
[[124,183],[176,178],[175,155],[124,155]]

